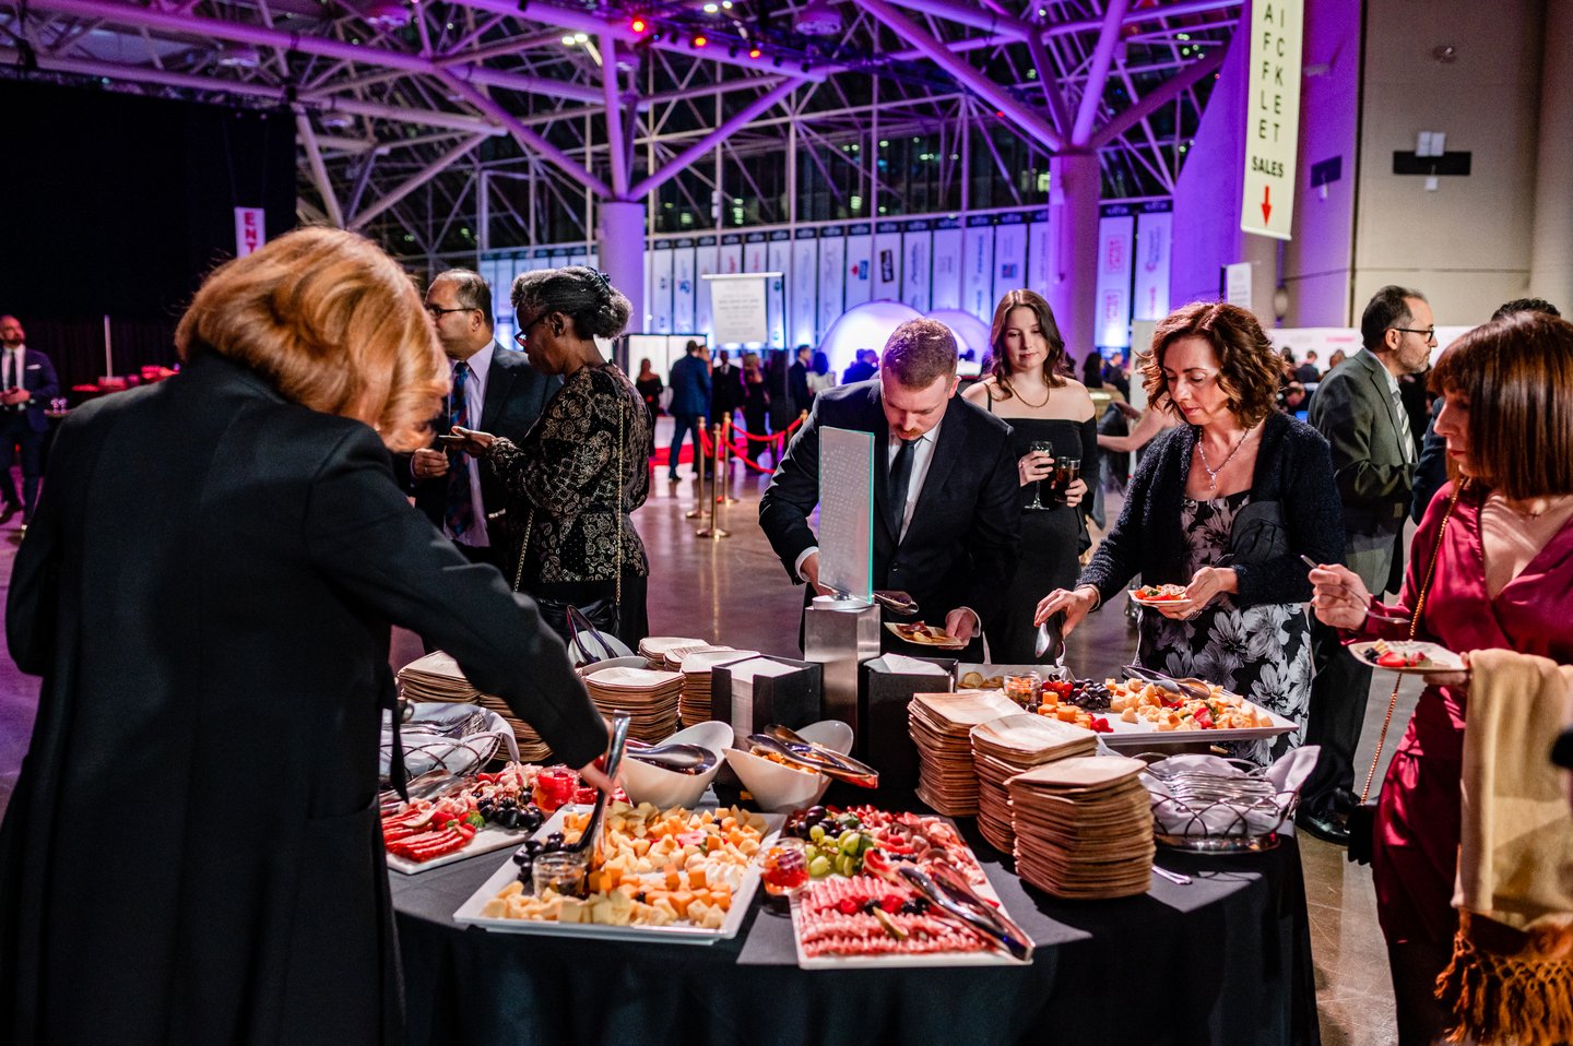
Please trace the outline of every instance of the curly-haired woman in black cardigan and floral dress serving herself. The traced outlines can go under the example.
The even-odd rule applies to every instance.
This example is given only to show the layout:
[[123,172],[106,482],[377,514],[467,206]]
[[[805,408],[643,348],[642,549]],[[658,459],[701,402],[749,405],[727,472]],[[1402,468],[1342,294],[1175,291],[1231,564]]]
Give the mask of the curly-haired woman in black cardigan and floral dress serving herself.
[[[1158,324],[1147,401],[1184,423],[1153,440],[1078,587],[1044,596],[1037,621],[1065,612],[1070,632],[1137,574],[1184,585],[1183,601],[1142,607],[1136,659],[1298,724],[1310,695],[1299,557],[1339,558],[1342,525],[1328,440],[1273,409],[1280,365],[1238,305],[1195,302]],[[1298,744],[1290,733],[1229,747],[1265,766]]]

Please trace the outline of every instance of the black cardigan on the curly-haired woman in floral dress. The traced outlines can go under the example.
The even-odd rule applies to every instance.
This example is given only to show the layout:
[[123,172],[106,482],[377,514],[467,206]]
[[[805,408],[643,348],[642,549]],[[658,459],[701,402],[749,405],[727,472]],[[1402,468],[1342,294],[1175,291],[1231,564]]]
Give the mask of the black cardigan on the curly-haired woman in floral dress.
[[[1153,440],[1125,492],[1120,521],[1098,544],[1078,585],[1093,585],[1107,601],[1137,574],[1147,585],[1189,584],[1180,508],[1195,439],[1197,429],[1181,425]],[[1321,433],[1284,414],[1269,414],[1262,426],[1251,500],[1284,503],[1290,552],[1235,566],[1236,606],[1310,599],[1301,554],[1318,563],[1343,562],[1343,514]]]

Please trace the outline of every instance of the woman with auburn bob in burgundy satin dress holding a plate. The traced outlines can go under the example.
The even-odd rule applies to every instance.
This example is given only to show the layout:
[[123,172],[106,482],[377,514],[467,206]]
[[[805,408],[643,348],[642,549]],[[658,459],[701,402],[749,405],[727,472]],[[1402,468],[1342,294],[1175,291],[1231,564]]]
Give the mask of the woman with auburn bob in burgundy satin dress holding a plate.
[[[1431,500],[1403,593],[1386,610],[1408,621],[1439,544],[1416,639],[1573,664],[1573,324],[1520,313],[1477,327],[1447,349],[1431,384],[1444,396],[1436,433],[1457,478]],[[1318,568],[1310,580],[1324,623],[1353,639],[1408,637],[1406,623],[1369,617],[1381,604],[1351,571]],[[1435,983],[1458,928],[1469,678],[1427,683],[1383,780],[1372,862],[1402,1046],[1430,1043],[1450,1022]],[[1548,758],[1551,742],[1524,757]]]

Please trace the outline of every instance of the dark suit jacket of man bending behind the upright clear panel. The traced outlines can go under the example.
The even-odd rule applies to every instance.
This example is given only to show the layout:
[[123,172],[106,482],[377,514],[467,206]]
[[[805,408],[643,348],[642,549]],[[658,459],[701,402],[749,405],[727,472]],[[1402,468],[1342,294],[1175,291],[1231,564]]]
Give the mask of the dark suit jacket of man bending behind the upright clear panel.
[[961,396],[950,398],[912,521],[897,544],[884,511],[890,426],[879,382],[821,392],[760,499],[760,527],[794,582],[801,582],[798,557],[818,544],[809,513],[820,502],[821,426],[875,436],[875,588],[911,593],[933,624],[944,624],[956,607],[972,607],[986,631],[997,628],[1021,536],[1021,480],[1010,453],[1010,426]]

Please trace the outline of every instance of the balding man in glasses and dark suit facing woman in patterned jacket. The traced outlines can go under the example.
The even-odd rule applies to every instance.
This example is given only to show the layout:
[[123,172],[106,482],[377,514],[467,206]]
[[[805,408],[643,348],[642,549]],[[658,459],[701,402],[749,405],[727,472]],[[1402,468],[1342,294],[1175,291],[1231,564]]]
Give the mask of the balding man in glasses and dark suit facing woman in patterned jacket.
[[[492,337],[491,288],[469,269],[448,269],[431,282],[426,311],[437,327],[442,351],[453,362],[453,393],[437,433],[453,425],[507,436],[521,442],[541,417],[546,401],[562,387]],[[521,316],[522,324],[533,321]],[[527,333],[521,329],[521,333]],[[502,517],[502,484],[481,464],[458,450],[417,450],[409,461],[415,505],[442,529],[472,563],[491,563],[510,574],[508,521]]]

